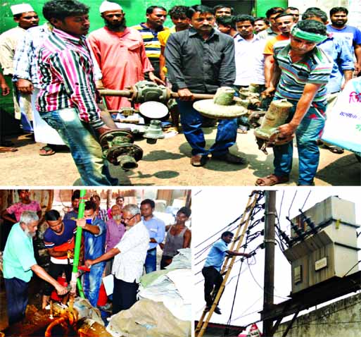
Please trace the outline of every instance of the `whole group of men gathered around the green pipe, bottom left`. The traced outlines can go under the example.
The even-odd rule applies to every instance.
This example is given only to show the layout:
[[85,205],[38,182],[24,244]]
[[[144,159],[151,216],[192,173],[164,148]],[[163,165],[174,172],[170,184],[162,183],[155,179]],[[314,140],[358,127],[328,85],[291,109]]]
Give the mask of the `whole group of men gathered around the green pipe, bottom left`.
[[[164,259],[170,259],[167,263],[162,262],[162,268],[170,264],[178,249],[190,246],[191,231],[186,228],[185,222],[191,212],[187,207],[179,209],[175,225],[167,226],[169,233],[163,244],[166,226],[164,221],[153,215],[153,200],[143,200],[140,207],[137,204],[124,205],[124,197],[119,195],[108,213],[101,208],[99,195],[94,195],[84,203],[84,217],[78,219],[80,191],[75,190],[72,193],[72,209],[65,216],[56,209],[44,214],[48,226],[44,231],[44,245],[50,256],[46,272],[37,264],[32,244],[41,219],[41,209],[37,202],[30,200],[28,190],[19,190],[18,194],[20,202],[8,207],[2,214],[5,218],[10,214],[16,216],[4,249],[9,324],[24,317],[32,271],[47,281],[43,289],[43,308],[49,304],[54,288],[60,295],[68,292],[56,280],[64,274],[68,284],[71,281],[77,227],[82,228],[84,264],[91,266],[83,278],[84,295],[96,307],[102,277],[113,274],[113,314],[129,309],[136,302],[143,270],[148,274],[157,269],[158,245],[165,251]],[[174,227],[172,233],[170,227]],[[24,246],[26,251],[16,249],[20,246]],[[63,302],[67,300],[67,295],[63,296]]]

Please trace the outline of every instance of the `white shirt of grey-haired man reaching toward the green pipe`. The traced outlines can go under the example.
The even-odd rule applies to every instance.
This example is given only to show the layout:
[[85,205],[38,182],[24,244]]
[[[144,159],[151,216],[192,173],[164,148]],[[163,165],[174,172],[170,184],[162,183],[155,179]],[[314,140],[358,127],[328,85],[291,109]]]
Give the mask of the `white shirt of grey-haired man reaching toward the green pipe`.
[[149,245],[149,233],[143,221],[125,231],[122,240],[115,246],[120,250],[115,255],[112,274],[119,280],[139,283],[143,274],[143,265],[146,261],[146,252]]

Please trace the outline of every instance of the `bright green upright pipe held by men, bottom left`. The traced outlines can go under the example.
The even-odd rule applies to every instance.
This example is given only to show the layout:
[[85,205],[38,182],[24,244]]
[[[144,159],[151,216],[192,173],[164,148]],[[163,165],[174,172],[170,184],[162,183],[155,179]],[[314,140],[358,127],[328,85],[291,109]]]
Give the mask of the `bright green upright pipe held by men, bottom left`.
[[[80,190],[80,200],[79,200],[79,211],[77,214],[77,219],[84,218],[84,208],[85,208],[85,194],[87,190]],[[80,255],[80,246],[82,244],[82,227],[77,226],[77,233],[75,235],[75,250],[74,250],[74,260],[72,264],[72,278],[70,281],[70,299],[69,299],[69,307],[72,309],[72,305],[74,303],[75,294],[77,292],[77,283],[80,290],[82,289],[80,280],[78,279],[78,266],[79,266],[79,255]],[[82,290],[80,291],[80,295],[84,297],[84,293]]]

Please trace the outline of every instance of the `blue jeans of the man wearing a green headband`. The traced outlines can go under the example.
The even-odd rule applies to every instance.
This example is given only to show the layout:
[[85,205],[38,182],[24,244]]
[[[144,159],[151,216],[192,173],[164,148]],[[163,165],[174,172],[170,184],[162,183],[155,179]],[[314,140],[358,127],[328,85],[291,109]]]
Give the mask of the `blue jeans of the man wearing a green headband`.
[[[293,104],[293,108],[286,123],[291,121],[296,111],[297,102],[290,102]],[[325,104],[312,103],[296,130],[298,185],[311,185],[316,176],[319,164],[317,140],[324,128],[325,111]],[[273,147],[273,153],[274,174],[276,176],[289,176],[292,169],[293,142]]]

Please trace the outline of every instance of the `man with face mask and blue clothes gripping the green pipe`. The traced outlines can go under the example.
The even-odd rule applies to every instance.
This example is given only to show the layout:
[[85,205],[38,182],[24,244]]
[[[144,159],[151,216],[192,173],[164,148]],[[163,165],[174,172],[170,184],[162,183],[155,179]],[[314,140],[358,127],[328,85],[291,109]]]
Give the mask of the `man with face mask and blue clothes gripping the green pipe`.
[[[96,259],[103,255],[106,243],[106,223],[96,217],[96,204],[85,202],[84,218],[77,219],[77,226],[83,228],[84,259]],[[105,263],[101,262],[84,274],[84,295],[96,307],[101,287],[101,276]]]

